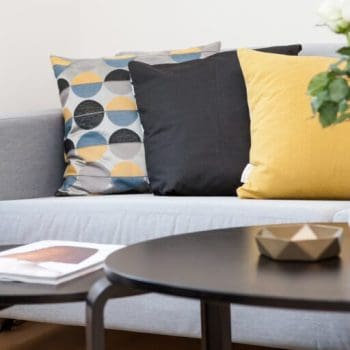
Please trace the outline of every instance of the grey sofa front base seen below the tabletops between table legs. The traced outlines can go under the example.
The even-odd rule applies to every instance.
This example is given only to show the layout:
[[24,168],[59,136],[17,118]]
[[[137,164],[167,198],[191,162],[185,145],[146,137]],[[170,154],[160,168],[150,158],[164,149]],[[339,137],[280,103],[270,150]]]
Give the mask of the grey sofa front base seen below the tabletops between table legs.
[[[350,349],[348,313],[232,305],[231,314],[232,340],[237,343],[268,349]],[[20,305],[0,312],[0,317],[80,326],[84,315],[83,303]],[[121,298],[109,301],[105,316],[108,329],[200,337],[196,300],[159,294]]]

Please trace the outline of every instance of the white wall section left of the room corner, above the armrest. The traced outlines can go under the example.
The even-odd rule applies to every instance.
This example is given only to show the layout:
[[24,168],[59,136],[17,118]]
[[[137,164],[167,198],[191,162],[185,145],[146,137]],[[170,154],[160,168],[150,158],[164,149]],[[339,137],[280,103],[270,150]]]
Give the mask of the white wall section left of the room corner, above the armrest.
[[80,54],[79,1],[0,4],[0,112],[59,106],[49,54]]

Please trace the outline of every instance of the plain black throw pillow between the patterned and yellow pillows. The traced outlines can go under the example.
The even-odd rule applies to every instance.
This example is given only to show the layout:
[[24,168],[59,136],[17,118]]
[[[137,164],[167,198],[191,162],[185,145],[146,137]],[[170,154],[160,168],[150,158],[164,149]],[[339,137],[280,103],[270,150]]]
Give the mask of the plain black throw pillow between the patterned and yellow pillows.
[[[262,49],[297,55],[300,45]],[[249,161],[250,123],[236,51],[177,65],[130,62],[151,189],[235,195]]]

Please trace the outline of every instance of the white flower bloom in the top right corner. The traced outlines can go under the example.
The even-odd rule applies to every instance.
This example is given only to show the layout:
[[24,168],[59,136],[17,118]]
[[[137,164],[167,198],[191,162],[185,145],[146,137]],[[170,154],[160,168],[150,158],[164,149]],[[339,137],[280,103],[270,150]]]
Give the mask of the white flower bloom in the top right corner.
[[325,0],[318,14],[324,24],[336,33],[350,30],[350,0]]

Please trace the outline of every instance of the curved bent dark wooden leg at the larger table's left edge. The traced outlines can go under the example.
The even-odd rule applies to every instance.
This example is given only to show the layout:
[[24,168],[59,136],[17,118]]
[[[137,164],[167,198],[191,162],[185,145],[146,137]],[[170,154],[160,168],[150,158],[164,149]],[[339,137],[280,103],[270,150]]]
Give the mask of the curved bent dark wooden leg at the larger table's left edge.
[[107,278],[98,280],[90,289],[86,299],[86,349],[103,350],[104,307],[111,298],[121,298],[144,292],[111,283]]

